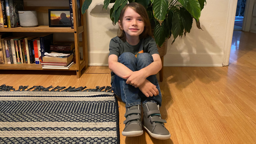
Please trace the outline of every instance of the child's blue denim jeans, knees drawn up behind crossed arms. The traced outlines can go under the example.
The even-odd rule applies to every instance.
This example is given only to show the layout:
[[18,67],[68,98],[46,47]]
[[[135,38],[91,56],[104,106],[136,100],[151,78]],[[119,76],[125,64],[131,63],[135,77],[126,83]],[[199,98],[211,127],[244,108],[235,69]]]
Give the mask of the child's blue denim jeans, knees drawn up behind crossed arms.
[[[134,54],[126,52],[118,57],[118,62],[122,63],[132,71],[138,71],[154,62],[154,59],[148,53],[141,53],[136,58]],[[162,94],[156,75],[151,75],[146,79],[156,86],[159,91],[159,95],[146,97],[138,87],[135,88],[130,84],[126,84],[126,79],[115,75],[112,83],[112,89],[118,97],[122,98],[122,101],[125,103],[125,108],[141,105],[141,102],[143,107],[147,102],[157,103],[159,107],[161,107]]]

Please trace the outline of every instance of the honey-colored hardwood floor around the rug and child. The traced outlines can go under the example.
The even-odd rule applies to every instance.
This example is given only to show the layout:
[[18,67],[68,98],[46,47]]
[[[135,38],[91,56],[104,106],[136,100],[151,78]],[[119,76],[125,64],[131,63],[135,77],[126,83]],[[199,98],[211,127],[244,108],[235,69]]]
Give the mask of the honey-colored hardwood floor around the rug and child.
[[[255,144],[255,38],[234,32],[229,67],[165,67],[160,111],[171,139],[154,139],[147,132],[127,138],[121,134],[121,144]],[[109,72],[108,67],[90,67],[77,79],[72,71],[1,70],[0,84],[93,88],[109,86]],[[125,104],[119,105],[121,133]]]

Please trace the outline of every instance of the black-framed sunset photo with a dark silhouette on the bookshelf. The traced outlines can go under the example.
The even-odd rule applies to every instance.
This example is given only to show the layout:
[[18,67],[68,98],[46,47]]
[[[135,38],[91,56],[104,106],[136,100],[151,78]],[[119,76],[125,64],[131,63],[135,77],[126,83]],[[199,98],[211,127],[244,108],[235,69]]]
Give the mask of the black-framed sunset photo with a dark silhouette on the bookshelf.
[[49,27],[71,27],[69,9],[48,9]]

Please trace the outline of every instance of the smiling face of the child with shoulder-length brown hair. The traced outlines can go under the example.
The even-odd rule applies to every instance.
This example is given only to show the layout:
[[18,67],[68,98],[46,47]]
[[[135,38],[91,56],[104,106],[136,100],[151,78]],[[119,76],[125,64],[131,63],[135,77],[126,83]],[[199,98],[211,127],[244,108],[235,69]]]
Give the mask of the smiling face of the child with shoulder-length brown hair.
[[[120,20],[118,24],[120,26]],[[139,36],[144,30],[142,17],[130,7],[124,12],[122,25],[126,36]]]

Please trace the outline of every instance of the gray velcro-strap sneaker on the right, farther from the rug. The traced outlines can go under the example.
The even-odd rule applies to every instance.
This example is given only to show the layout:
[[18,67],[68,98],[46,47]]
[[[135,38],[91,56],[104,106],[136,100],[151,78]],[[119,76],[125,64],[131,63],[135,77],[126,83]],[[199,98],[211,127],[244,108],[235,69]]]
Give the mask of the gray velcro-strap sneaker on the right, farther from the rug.
[[165,128],[166,120],[161,118],[159,105],[147,102],[143,108],[142,127],[155,139],[169,139],[171,134]]

